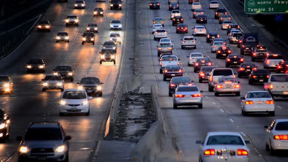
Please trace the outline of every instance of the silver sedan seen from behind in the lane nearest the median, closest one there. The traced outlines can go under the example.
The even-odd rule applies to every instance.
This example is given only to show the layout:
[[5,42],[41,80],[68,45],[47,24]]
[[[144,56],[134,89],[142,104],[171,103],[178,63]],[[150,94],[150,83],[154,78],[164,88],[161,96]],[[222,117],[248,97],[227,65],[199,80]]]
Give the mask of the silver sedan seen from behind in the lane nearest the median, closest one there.
[[203,108],[202,95],[196,85],[181,85],[175,90],[173,96],[173,108],[177,109],[178,106],[193,106],[197,105],[198,108]]

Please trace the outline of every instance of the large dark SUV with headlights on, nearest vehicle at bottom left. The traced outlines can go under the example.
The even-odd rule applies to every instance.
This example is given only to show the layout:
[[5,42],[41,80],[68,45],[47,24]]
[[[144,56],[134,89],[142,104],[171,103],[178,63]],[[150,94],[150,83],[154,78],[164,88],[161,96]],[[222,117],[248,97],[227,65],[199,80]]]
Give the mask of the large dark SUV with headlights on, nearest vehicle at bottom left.
[[69,161],[69,140],[59,122],[33,122],[18,148],[18,162],[31,161]]

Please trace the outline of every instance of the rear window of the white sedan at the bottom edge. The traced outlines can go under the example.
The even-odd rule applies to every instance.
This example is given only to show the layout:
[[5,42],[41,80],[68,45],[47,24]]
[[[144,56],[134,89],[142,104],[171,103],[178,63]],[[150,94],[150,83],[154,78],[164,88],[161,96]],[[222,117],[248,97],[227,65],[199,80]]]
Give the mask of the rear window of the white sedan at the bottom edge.
[[244,145],[243,140],[239,136],[233,135],[217,135],[210,136],[207,140],[207,145],[217,144],[231,144],[231,145]]

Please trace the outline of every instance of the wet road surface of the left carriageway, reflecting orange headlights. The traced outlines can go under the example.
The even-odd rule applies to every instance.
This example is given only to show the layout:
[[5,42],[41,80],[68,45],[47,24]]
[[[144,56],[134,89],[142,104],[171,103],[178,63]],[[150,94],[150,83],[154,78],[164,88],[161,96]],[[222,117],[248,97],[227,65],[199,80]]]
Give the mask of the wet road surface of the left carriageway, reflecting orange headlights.
[[[123,2],[126,6],[127,1]],[[133,4],[133,2],[130,2]],[[102,7],[104,17],[94,17],[95,7]],[[134,8],[123,7],[122,11],[111,11],[109,2],[98,3],[94,0],[86,0],[85,9],[74,9],[74,1],[68,3],[52,2],[42,19],[50,20],[52,24],[51,32],[37,32],[35,29],[30,34],[27,41],[32,42],[32,46],[27,47],[25,55],[19,58],[10,66],[0,69],[1,74],[8,74],[14,83],[14,93],[12,95],[0,96],[0,107],[3,108],[11,118],[11,135],[8,142],[0,143],[0,160],[6,159],[16,151],[19,144],[17,136],[23,136],[28,124],[33,121],[59,121],[66,134],[72,136],[70,141],[70,161],[84,162],[91,161],[93,150],[98,140],[103,138],[103,125],[107,118],[107,112],[111,104],[113,90],[119,80],[119,74],[123,58],[128,55],[128,51],[133,51]],[[79,27],[65,27],[67,15],[74,14],[80,18]],[[111,20],[121,20],[122,31],[110,31],[109,22]],[[127,24],[127,20],[129,24]],[[92,43],[81,44],[81,35],[85,31],[87,23],[96,22],[99,33],[95,33],[95,45]],[[129,31],[126,32],[126,31]],[[56,35],[59,31],[69,33],[70,42],[56,43]],[[118,46],[116,65],[113,62],[99,63],[99,52],[104,41],[108,41],[110,33],[118,32],[122,38],[122,44]],[[124,47],[128,43],[129,46]],[[130,47],[131,45],[131,47]],[[133,53],[132,53],[133,54]],[[26,73],[25,63],[32,58],[42,58],[46,62],[46,72]],[[127,58],[125,60],[128,60]],[[125,62],[125,67],[133,62]],[[76,82],[82,77],[98,77],[103,84],[103,97],[94,97],[90,100],[90,116],[59,116],[59,101],[62,92],[51,90],[42,92],[41,79],[45,74],[51,74],[52,69],[57,65],[71,65],[75,70],[74,82],[65,82],[65,88],[77,88]],[[121,75],[130,77],[132,68],[125,68]],[[15,155],[15,154],[14,154]],[[13,156],[14,157],[14,156]],[[13,159],[13,158],[12,158]]]

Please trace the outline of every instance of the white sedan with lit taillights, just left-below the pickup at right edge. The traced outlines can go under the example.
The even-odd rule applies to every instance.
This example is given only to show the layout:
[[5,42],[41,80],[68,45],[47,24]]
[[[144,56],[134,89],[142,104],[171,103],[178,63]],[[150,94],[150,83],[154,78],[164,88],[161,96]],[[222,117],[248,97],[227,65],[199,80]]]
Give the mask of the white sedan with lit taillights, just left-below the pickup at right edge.
[[249,91],[245,97],[241,97],[242,115],[248,113],[268,113],[275,114],[275,105],[272,96],[266,91]]

